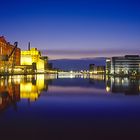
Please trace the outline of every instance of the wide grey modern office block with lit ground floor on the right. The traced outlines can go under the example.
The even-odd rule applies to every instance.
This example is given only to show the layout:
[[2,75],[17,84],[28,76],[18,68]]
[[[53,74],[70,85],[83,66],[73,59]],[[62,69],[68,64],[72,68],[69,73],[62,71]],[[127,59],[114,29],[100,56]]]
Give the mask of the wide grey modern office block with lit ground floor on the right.
[[140,75],[140,56],[125,55],[106,60],[106,74],[111,75]]

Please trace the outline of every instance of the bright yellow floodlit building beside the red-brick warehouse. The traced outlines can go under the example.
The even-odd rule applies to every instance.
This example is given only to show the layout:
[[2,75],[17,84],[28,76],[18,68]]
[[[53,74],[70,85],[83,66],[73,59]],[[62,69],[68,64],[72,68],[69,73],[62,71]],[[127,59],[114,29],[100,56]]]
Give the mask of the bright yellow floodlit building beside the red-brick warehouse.
[[46,62],[41,59],[41,52],[37,48],[21,51],[21,65],[32,66],[36,72],[44,72]]

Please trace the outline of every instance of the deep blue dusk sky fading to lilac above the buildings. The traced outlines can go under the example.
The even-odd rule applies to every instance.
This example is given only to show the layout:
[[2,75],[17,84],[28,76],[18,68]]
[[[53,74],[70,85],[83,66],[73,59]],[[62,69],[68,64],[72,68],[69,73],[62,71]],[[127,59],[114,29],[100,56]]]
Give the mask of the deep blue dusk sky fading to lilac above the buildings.
[[137,0],[3,0],[0,35],[51,59],[140,52]]

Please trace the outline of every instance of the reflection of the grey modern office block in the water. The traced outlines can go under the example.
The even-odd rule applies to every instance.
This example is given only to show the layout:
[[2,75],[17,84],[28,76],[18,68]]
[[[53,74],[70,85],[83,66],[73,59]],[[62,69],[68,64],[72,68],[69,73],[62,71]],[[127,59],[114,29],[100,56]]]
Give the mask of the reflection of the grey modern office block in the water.
[[128,77],[108,77],[106,79],[106,90],[112,93],[139,94],[140,79]]

